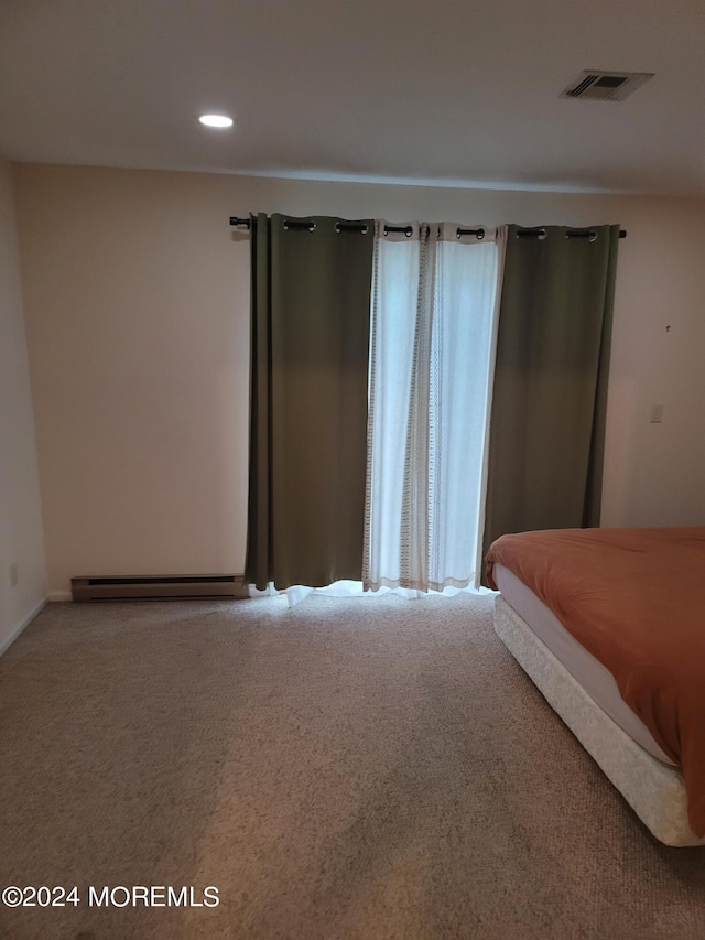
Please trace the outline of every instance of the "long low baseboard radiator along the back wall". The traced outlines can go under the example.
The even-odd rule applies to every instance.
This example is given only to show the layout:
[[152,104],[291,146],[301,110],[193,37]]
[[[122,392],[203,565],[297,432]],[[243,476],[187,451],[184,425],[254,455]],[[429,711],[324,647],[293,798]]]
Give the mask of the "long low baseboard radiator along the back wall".
[[241,574],[162,574],[72,577],[74,601],[188,601],[249,597]]

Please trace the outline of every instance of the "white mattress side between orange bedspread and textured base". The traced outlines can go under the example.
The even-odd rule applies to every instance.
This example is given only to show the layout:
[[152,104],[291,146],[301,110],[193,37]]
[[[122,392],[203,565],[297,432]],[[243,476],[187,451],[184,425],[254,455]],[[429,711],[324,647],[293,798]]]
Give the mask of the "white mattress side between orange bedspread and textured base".
[[676,766],[621,698],[611,672],[565,629],[553,611],[503,565],[495,566],[495,581],[507,603],[579,682],[589,698],[652,757]]

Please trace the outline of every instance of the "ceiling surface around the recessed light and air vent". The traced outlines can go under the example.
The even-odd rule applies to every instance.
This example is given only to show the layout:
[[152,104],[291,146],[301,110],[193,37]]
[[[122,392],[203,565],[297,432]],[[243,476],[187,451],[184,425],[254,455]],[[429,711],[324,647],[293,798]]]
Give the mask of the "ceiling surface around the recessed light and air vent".
[[0,154],[704,195],[704,53],[703,0],[0,0]]

